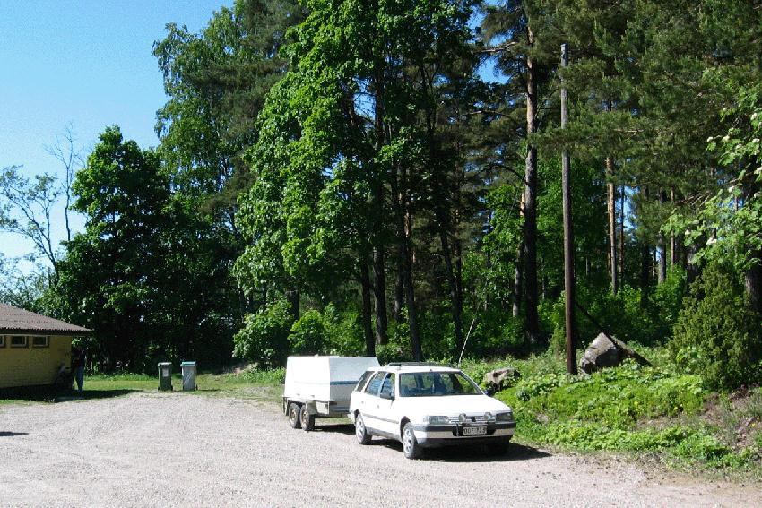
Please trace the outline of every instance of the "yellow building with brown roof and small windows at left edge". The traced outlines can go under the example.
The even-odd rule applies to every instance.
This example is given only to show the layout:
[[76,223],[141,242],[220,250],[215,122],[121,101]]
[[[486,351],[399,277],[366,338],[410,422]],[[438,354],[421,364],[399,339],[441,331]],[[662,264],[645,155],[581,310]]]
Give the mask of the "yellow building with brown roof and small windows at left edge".
[[72,338],[82,326],[0,304],[0,388],[53,383],[61,366],[71,367]]

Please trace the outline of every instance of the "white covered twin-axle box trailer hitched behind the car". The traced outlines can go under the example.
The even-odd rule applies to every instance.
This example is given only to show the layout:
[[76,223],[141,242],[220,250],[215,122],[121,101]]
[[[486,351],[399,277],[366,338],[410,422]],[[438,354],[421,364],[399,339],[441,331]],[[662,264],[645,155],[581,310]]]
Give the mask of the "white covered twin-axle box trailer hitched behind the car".
[[312,430],[315,418],[346,416],[352,389],[376,357],[289,357],[283,412],[290,426]]

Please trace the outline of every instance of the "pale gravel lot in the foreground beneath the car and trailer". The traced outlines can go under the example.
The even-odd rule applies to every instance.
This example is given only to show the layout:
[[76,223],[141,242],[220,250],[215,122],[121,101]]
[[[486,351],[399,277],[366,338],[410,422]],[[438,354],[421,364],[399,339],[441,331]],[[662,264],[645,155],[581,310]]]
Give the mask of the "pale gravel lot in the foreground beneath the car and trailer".
[[520,445],[408,461],[317,421],[181,392],[0,406],[0,506],[762,506],[754,486]]

